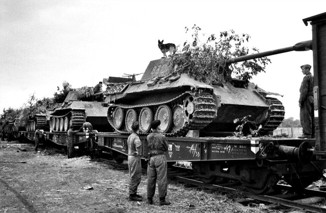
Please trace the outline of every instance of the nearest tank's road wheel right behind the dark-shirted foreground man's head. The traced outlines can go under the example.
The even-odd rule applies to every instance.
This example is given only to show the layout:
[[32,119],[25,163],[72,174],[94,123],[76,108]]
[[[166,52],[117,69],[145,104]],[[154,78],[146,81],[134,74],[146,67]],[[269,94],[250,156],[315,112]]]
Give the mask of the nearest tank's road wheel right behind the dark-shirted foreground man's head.
[[155,120],[160,120],[161,124],[159,125],[159,129],[161,133],[166,133],[170,130],[172,126],[172,111],[170,107],[166,104],[159,105],[157,111],[155,113]]

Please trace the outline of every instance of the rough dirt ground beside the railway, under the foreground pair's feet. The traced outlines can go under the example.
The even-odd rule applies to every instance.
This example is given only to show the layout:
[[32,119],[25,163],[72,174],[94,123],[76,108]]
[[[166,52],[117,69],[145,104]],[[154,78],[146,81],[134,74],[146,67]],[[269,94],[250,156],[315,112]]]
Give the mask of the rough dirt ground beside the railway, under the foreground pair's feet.
[[[20,151],[18,148],[26,151]],[[128,200],[128,173],[109,169],[88,156],[67,159],[64,153],[32,144],[0,142],[0,213],[2,212],[284,212],[242,206],[219,193],[186,190],[170,182],[169,206]],[[146,198],[147,177],[139,194]],[[92,189],[88,189],[92,187]],[[86,189],[84,189],[86,188]]]

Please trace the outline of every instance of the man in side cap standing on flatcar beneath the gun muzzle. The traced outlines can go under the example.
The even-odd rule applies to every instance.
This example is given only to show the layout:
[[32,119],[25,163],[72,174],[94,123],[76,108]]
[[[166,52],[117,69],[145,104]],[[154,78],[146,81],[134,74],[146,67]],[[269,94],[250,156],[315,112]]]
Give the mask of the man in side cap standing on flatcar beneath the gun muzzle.
[[302,73],[305,75],[300,87],[300,123],[303,128],[303,135],[298,138],[314,138],[314,78],[310,72],[311,66],[309,64],[301,66]]

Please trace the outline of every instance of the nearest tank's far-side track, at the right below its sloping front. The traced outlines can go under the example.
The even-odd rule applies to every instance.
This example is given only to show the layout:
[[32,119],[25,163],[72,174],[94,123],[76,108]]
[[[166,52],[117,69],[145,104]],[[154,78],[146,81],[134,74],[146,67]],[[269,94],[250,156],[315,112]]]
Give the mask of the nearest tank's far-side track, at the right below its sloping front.
[[268,118],[262,125],[263,131],[274,131],[282,123],[285,110],[282,102],[277,98],[266,97],[269,102]]

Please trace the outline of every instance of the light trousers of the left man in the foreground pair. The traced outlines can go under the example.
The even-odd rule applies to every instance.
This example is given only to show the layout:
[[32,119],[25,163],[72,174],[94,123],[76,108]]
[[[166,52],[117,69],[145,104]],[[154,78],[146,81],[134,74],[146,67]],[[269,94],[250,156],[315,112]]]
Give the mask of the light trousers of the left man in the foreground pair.
[[142,164],[141,157],[129,155],[128,156],[129,167],[129,194],[137,194],[137,189],[142,179]]

